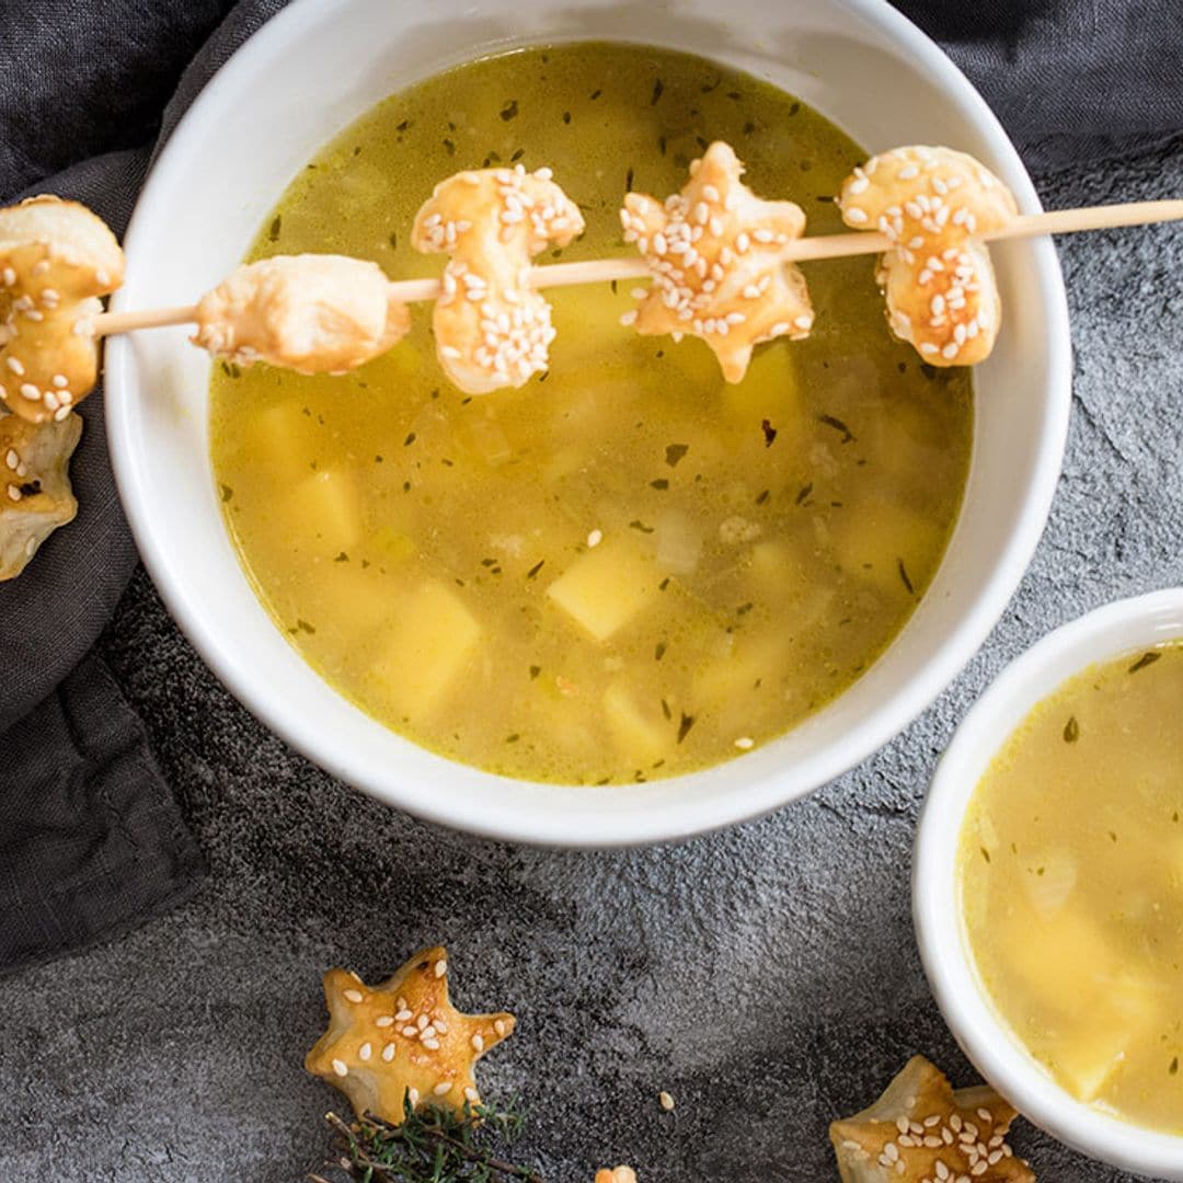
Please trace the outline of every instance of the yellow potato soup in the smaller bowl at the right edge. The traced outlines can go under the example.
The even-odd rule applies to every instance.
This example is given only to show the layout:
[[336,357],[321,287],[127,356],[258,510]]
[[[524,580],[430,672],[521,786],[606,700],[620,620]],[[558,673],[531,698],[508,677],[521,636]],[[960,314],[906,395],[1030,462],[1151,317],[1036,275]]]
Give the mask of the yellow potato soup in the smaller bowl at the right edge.
[[1183,644],[1097,666],[1010,737],[962,830],[998,1011],[1082,1101],[1183,1132]]

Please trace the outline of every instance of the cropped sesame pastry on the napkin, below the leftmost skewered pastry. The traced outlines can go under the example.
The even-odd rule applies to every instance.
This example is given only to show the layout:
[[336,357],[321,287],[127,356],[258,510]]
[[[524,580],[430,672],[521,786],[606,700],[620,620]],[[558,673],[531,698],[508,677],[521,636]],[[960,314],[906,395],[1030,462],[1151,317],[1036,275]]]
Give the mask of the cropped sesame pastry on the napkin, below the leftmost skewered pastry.
[[80,437],[77,415],[31,424],[0,411],[0,580],[20,575],[37,548],[73,521],[69,466]]

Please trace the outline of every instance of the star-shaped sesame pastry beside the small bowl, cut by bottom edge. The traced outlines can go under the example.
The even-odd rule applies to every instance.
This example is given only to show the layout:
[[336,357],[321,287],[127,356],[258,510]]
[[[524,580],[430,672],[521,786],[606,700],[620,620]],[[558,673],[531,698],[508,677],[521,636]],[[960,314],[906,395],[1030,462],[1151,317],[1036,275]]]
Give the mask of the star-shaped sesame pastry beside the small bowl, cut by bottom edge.
[[1035,1183],[1006,1134],[1014,1108],[993,1088],[956,1092],[913,1055],[884,1094],[830,1124],[842,1183]]

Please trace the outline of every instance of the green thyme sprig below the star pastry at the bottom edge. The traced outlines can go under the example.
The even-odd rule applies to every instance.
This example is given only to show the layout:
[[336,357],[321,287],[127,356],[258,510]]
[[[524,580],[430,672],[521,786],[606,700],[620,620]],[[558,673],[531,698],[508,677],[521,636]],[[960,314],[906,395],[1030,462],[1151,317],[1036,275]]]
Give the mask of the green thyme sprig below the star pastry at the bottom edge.
[[[401,1125],[373,1113],[353,1123],[336,1113],[325,1120],[336,1134],[338,1170],[358,1183],[544,1183],[530,1166],[498,1157],[522,1133],[523,1119],[511,1101],[504,1108],[470,1105],[463,1111],[403,1101]],[[310,1175],[312,1183],[329,1183]]]

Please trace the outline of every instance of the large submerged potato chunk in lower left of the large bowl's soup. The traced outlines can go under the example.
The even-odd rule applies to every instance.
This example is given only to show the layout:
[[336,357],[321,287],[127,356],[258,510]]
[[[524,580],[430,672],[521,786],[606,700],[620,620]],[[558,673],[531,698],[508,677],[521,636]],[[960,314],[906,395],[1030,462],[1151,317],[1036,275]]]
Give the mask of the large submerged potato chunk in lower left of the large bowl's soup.
[[392,710],[409,719],[429,715],[464,670],[480,625],[444,583],[429,582],[394,606],[374,674]]

